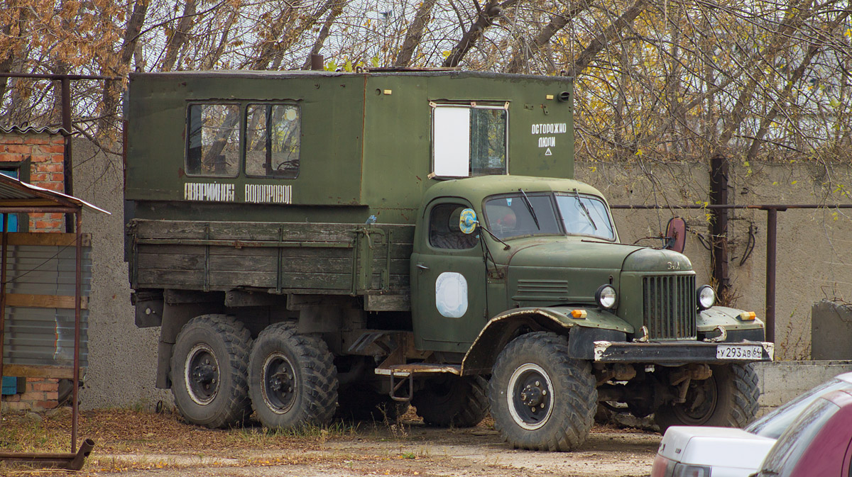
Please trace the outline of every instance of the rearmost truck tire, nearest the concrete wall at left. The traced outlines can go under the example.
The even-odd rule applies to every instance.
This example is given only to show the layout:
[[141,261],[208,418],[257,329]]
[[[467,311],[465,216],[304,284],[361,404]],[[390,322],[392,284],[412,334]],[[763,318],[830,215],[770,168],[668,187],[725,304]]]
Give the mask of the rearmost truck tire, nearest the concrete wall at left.
[[188,321],[175,341],[171,392],[181,416],[210,429],[244,423],[251,414],[249,331],[232,316],[201,315]]

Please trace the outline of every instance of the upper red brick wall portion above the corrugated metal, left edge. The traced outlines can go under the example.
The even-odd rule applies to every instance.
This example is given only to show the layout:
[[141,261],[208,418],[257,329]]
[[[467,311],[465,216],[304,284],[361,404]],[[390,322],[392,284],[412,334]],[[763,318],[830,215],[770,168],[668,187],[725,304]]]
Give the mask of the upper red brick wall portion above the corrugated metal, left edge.
[[[44,189],[65,190],[63,153],[65,138],[56,133],[0,133],[0,167],[3,163],[20,164],[29,161],[29,171],[21,171],[21,179]],[[31,232],[63,232],[65,221],[61,213],[31,213]]]

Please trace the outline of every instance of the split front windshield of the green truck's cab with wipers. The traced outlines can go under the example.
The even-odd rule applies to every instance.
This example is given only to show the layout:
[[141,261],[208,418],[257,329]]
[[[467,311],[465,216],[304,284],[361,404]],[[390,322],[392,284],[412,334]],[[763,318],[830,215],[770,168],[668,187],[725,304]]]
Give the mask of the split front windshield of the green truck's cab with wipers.
[[525,192],[488,199],[486,223],[501,240],[518,236],[584,235],[614,240],[607,205],[575,192]]

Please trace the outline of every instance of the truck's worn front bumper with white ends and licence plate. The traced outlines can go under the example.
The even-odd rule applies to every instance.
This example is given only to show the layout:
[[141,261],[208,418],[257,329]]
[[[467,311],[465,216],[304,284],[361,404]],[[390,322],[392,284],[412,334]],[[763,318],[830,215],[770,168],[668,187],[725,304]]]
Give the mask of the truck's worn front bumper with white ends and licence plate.
[[[732,346],[746,346],[749,352],[724,352],[731,349]],[[756,353],[753,352],[756,350],[755,347],[760,347]],[[596,341],[594,360],[602,363],[648,363],[675,366],[684,363],[719,364],[773,361],[774,353],[774,344],[759,341],[745,341],[740,343],[701,343],[694,341],[626,343]],[[722,355],[731,357],[721,357]]]

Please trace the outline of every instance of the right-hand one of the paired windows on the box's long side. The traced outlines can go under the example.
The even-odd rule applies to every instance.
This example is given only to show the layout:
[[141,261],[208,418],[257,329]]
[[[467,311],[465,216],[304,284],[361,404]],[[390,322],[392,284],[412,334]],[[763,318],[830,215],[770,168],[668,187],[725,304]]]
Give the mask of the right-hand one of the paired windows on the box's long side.
[[302,113],[296,105],[248,105],[245,111],[245,173],[296,179]]

